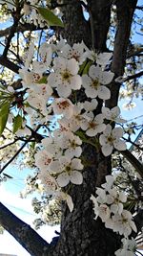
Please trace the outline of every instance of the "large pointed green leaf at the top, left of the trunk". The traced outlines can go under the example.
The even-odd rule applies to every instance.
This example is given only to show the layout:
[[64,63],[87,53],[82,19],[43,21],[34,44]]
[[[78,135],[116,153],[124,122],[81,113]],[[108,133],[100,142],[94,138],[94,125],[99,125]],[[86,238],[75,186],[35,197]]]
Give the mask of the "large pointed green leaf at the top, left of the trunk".
[[37,8],[37,11],[41,14],[41,16],[48,22],[50,26],[58,26],[58,27],[64,27],[63,22],[58,18],[53,12],[51,12],[49,9],[39,7]]

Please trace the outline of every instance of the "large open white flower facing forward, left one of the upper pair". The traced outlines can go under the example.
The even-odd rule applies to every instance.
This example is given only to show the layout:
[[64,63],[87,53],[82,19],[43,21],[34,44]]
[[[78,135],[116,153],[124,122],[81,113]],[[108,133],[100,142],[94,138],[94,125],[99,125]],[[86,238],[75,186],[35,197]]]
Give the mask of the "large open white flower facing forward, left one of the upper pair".
[[48,82],[51,87],[56,87],[60,97],[67,98],[71,95],[72,90],[80,89],[82,81],[77,74],[79,65],[74,58],[55,58],[53,70]]

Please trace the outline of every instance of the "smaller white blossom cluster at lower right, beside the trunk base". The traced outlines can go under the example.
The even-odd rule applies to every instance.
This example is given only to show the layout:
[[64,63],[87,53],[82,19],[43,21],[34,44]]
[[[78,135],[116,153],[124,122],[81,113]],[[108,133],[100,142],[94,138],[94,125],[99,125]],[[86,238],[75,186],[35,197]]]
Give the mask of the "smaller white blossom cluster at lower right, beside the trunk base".
[[127,195],[113,187],[114,180],[113,175],[107,175],[106,183],[101,185],[102,188],[96,189],[96,198],[91,197],[95,214],[94,219],[96,220],[99,217],[107,228],[111,228],[113,232],[124,236],[122,240],[123,248],[115,252],[116,256],[132,256],[134,255],[135,242],[134,240],[131,241],[129,236],[132,231],[137,232],[137,229],[131,212],[124,209]]

